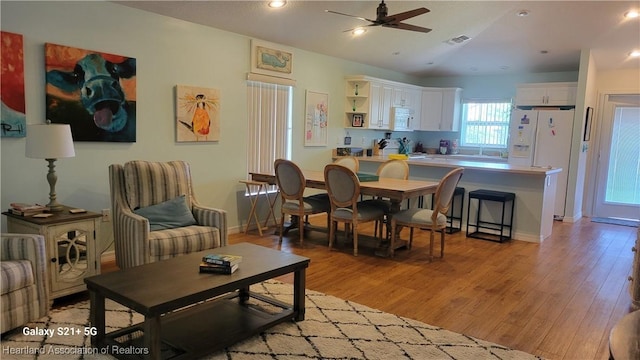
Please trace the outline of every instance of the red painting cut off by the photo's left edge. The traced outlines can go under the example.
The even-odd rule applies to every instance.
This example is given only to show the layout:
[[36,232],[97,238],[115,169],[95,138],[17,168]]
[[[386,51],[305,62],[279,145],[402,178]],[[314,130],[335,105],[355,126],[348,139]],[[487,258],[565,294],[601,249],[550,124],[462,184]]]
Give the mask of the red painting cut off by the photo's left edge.
[[22,35],[0,32],[0,99],[2,100],[2,137],[26,135],[24,95],[24,53]]

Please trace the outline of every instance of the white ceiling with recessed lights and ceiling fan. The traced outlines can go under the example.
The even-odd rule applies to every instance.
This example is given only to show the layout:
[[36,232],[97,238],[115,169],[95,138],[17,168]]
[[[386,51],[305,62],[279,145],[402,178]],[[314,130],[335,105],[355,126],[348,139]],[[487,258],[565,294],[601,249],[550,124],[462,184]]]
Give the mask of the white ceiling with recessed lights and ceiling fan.
[[[375,19],[375,1],[115,1],[153,13],[207,25],[316,53],[414,76],[466,76],[577,71],[582,49],[599,70],[639,68],[638,1],[386,1],[389,15],[426,7],[405,22],[429,33],[368,27],[359,37],[344,30]],[[529,15],[517,16],[521,10]],[[450,45],[466,35],[470,40]]]

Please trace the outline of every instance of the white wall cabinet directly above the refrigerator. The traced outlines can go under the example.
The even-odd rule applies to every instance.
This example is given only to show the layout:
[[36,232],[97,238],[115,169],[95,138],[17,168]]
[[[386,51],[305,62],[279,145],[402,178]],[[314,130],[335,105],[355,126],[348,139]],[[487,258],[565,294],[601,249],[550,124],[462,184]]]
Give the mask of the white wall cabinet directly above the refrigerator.
[[575,106],[577,83],[519,84],[516,106]]

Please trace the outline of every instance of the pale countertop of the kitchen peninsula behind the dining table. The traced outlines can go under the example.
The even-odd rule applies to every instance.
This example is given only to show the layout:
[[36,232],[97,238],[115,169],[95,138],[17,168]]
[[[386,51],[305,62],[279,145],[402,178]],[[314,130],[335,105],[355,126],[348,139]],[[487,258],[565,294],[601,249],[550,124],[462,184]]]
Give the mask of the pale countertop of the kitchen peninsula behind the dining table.
[[[487,156],[483,161],[483,156],[477,156],[478,160],[469,160],[474,158],[474,155],[429,155],[425,154],[424,158],[409,158],[407,163],[409,165],[418,166],[432,166],[432,167],[458,167],[462,166],[465,169],[493,171],[500,173],[517,173],[527,175],[550,175],[557,174],[562,171],[562,168],[552,167],[535,167],[535,166],[516,166],[511,165],[498,157]],[[491,158],[491,159],[489,159]],[[464,160],[463,160],[464,159]],[[358,157],[360,161],[370,162],[385,162],[389,160],[388,156],[374,155],[374,156],[362,156]],[[503,160],[503,161],[500,161]]]

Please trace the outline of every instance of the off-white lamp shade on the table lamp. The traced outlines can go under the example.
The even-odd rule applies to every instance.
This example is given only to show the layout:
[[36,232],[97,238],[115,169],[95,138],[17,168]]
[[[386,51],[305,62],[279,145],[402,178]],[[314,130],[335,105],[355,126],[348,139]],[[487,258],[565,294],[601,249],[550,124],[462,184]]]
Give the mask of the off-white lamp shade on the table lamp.
[[71,127],[67,124],[27,125],[26,155],[34,159],[76,156]]

